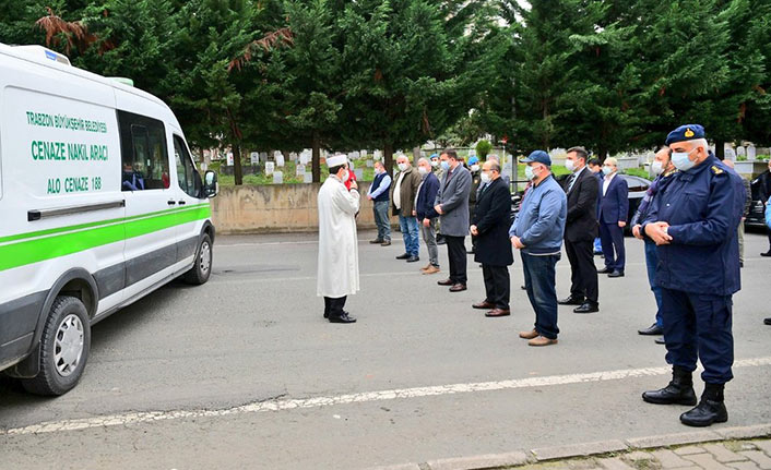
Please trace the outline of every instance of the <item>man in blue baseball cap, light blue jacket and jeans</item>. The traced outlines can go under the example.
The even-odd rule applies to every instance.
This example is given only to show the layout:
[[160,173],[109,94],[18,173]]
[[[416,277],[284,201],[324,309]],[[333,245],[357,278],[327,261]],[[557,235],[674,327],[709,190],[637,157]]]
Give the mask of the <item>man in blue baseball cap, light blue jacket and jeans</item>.
[[551,158],[535,150],[522,159],[525,177],[533,183],[520,205],[509,237],[520,250],[524,285],[535,310],[535,328],[520,333],[530,346],[557,344],[557,289],[555,266],[560,258],[568,200],[551,174]]

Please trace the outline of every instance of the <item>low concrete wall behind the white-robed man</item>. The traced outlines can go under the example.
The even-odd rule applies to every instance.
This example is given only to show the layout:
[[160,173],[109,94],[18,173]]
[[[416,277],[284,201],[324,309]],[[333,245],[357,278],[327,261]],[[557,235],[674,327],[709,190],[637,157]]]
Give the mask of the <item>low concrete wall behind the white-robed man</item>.
[[[359,185],[359,229],[375,228],[369,182]],[[317,195],[321,184],[266,184],[221,188],[212,198],[212,218],[217,233],[301,232],[319,229]],[[392,222],[396,221],[392,217]]]

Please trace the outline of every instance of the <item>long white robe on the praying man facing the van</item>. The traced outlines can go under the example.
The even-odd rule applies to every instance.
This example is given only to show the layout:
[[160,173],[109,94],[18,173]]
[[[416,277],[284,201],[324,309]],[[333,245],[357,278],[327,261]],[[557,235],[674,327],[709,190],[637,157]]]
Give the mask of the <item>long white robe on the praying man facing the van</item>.
[[359,193],[345,189],[332,174],[319,191],[319,272],[317,296],[333,299],[356,293],[358,241],[356,213]]

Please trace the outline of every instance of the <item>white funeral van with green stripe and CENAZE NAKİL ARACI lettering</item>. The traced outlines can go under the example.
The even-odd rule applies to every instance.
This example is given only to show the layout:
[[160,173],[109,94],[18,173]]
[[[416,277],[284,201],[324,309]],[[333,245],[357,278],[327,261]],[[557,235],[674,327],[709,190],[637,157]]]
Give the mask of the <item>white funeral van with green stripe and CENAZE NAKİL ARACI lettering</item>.
[[64,394],[91,325],[177,277],[205,282],[205,180],[158,98],[0,44],[0,371]]

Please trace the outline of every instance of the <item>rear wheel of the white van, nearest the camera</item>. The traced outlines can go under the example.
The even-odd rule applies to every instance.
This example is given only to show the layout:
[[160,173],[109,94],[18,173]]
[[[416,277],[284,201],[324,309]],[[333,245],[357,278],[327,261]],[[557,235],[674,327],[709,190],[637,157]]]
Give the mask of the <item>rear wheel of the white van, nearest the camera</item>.
[[40,372],[22,379],[22,386],[36,395],[64,395],[83,375],[90,349],[91,323],[85,305],[74,297],[57,297],[40,337]]

